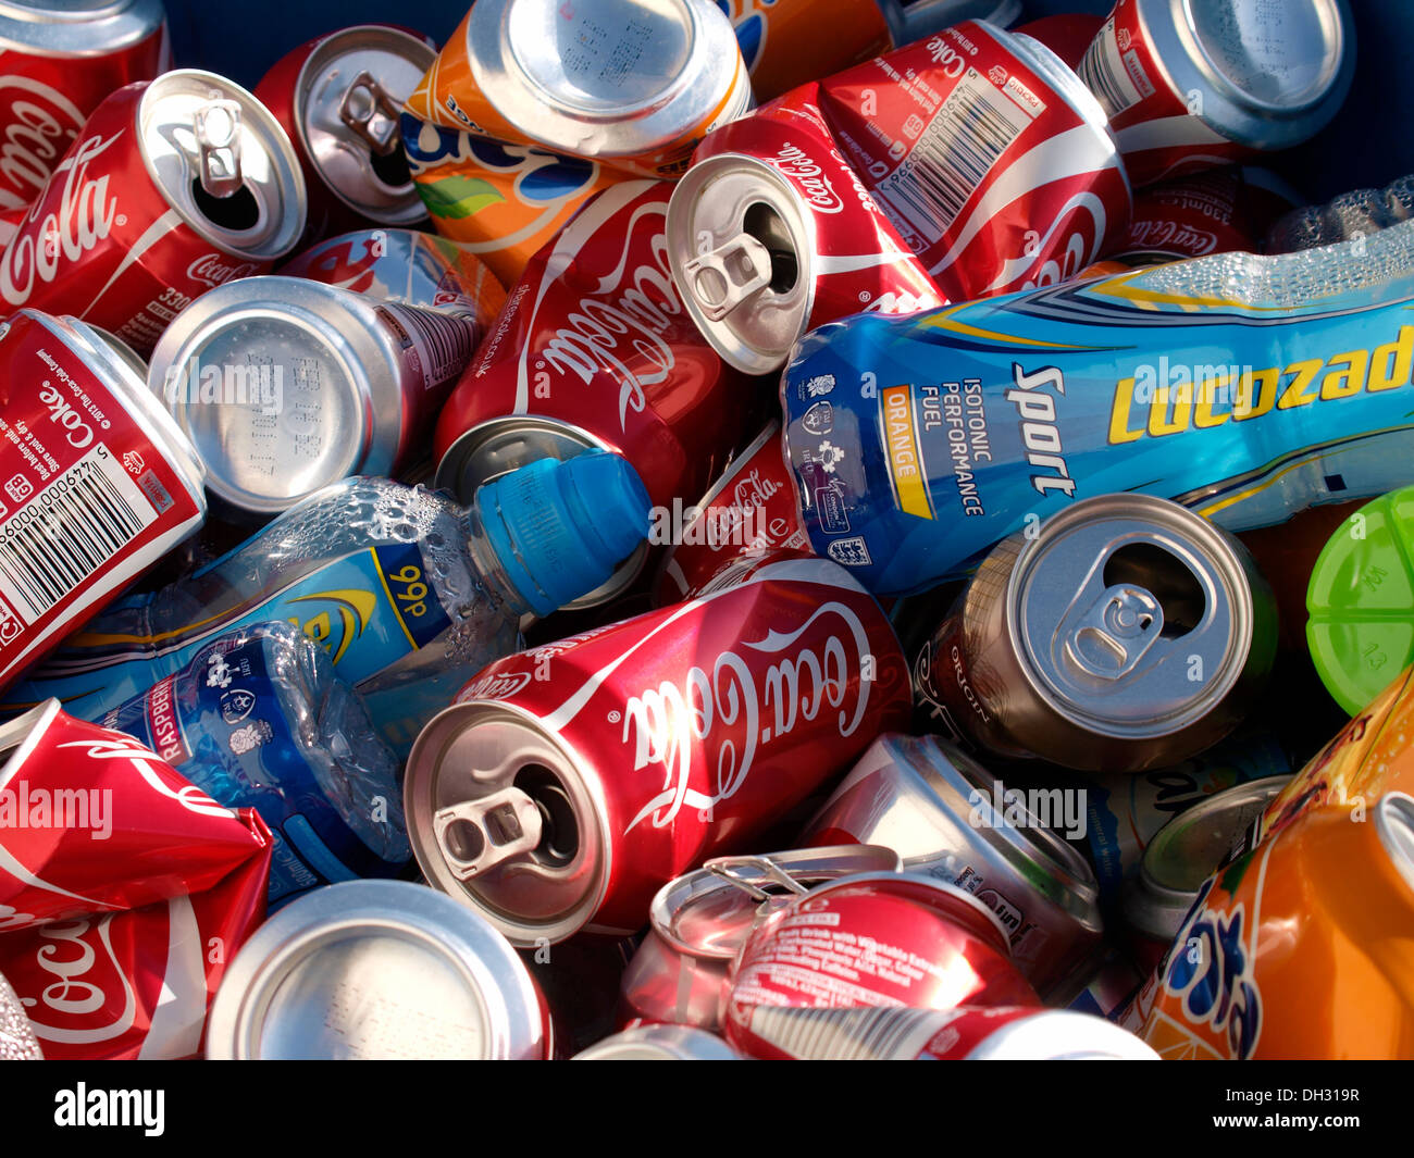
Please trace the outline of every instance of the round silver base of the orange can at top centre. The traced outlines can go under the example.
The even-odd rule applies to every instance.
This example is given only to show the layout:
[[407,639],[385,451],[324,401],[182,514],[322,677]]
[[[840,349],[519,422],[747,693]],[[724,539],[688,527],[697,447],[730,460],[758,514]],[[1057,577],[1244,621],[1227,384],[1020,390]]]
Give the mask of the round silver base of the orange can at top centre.
[[710,0],[479,0],[467,24],[477,83],[501,116],[561,153],[636,157],[691,140],[749,85]]

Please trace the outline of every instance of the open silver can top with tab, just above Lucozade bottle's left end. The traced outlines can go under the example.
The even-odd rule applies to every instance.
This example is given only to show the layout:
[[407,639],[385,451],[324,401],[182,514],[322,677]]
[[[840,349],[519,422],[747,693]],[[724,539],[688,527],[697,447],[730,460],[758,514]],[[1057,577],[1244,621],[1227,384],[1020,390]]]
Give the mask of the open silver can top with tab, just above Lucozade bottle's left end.
[[814,215],[772,165],[723,153],[667,202],[667,256],[687,312],[744,373],[785,365],[814,307]]

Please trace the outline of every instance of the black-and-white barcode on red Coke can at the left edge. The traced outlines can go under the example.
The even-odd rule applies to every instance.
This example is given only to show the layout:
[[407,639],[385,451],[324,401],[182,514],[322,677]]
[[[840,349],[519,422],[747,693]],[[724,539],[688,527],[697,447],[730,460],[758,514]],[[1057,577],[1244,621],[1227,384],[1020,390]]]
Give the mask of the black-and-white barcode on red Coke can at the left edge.
[[99,443],[0,525],[0,594],[33,624],[156,519]]

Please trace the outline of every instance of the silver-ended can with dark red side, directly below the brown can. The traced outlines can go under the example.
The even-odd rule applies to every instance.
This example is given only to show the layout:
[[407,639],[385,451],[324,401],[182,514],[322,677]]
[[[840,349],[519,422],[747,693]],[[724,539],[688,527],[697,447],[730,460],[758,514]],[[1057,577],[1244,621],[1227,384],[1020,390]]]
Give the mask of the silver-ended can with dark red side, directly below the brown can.
[[[997,915],[1012,959],[1045,995],[1100,940],[1099,885],[1048,823],[1051,803],[1059,810],[1066,792],[1083,793],[1018,792],[937,737],[891,732],[860,758],[803,840],[881,844],[906,871],[967,889]],[[1085,824],[1083,805],[1073,823]]]

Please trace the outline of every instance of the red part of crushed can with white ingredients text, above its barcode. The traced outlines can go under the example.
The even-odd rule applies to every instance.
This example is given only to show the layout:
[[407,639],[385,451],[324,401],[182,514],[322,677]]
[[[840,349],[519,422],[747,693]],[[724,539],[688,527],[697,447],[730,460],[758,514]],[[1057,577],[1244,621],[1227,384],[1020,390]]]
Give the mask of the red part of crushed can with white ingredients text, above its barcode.
[[795,898],[747,939],[725,1035],[754,1056],[785,1058],[752,1032],[756,1010],[1039,1004],[981,901],[919,872],[865,872]]

